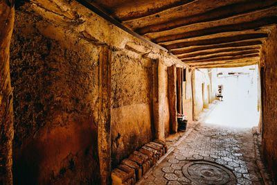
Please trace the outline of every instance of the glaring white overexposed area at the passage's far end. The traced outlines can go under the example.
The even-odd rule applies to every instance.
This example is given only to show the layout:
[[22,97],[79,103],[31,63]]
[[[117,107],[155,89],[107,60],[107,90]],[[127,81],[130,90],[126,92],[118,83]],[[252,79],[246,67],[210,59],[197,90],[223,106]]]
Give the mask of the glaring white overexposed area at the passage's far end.
[[[250,67],[248,67],[250,68]],[[245,69],[245,68],[244,68]],[[240,72],[243,68],[238,68]],[[231,70],[230,70],[231,71]],[[256,73],[248,71],[238,76],[219,78],[224,85],[223,101],[215,101],[215,109],[205,119],[205,123],[229,127],[253,127],[260,120],[258,112],[258,87]]]

